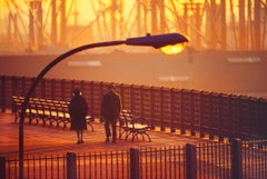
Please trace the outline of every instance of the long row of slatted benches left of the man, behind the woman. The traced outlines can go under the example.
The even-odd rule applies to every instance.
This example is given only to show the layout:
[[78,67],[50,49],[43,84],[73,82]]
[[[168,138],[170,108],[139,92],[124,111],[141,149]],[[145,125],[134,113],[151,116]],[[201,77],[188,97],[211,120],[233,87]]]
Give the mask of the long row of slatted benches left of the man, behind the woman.
[[[21,107],[24,101],[24,97],[12,97],[13,111],[16,113],[14,122],[20,119]],[[66,129],[70,126],[70,115],[69,115],[69,102],[62,100],[51,100],[42,98],[30,98],[29,105],[26,109],[26,118],[28,118],[29,125],[36,122],[42,126],[60,126]],[[92,117],[87,116],[87,123],[90,126],[91,130],[95,131],[91,121]]]

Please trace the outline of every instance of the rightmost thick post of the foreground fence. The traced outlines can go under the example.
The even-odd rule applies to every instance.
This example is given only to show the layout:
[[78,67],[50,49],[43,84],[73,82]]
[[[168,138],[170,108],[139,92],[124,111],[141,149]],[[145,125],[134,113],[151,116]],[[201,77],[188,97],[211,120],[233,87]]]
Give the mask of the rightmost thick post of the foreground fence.
[[241,140],[231,139],[231,178],[241,179],[243,178],[243,151],[241,151]]

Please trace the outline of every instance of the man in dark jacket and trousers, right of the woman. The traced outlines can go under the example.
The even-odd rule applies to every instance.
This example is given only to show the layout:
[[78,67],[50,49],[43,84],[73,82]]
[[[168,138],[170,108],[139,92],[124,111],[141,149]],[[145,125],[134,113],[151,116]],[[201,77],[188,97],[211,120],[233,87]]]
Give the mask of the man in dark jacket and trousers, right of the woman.
[[121,110],[120,95],[116,92],[113,84],[108,86],[108,92],[102,97],[101,118],[105,120],[106,142],[109,141],[110,125],[112,127],[112,142],[116,142],[116,123]]

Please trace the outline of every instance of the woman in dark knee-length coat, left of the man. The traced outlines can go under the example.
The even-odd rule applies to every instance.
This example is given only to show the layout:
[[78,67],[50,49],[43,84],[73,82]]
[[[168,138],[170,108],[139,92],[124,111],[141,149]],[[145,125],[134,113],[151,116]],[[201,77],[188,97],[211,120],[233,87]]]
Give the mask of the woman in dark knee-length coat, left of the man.
[[87,129],[87,117],[88,105],[86,99],[79,89],[73,90],[72,99],[69,105],[69,113],[71,118],[70,130],[76,130],[78,141],[77,143],[83,143],[82,136],[83,130]]

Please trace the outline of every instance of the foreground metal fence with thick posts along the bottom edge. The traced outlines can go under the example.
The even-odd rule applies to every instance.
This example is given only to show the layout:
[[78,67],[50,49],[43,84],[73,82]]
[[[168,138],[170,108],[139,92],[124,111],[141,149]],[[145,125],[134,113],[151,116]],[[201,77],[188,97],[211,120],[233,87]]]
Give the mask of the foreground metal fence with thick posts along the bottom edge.
[[[26,178],[266,179],[267,140],[199,143],[24,159]],[[1,178],[18,178],[19,160],[0,157]]]

